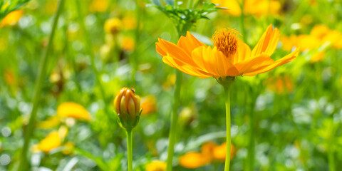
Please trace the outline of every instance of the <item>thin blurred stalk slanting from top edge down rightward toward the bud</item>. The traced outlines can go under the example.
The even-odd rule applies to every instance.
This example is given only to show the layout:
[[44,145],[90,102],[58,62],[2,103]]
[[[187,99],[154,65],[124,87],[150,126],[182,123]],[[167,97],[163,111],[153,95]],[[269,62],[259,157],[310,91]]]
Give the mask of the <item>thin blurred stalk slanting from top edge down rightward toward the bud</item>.
[[[91,51],[91,49],[93,48],[93,45],[91,43],[91,40],[90,40],[90,37],[89,37],[89,33],[88,33],[88,30],[86,28],[86,24],[84,24],[84,18],[83,18],[83,13],[81,11],[81,1],[80,0],[76,0],[75,1],[76,3],[76,9],[77,9],[77,12],[78,12],[78,23],[81,25],[81,28],[83,30],[83,35],[84,35],[84,38],[86,39],[85,41],[85,45],[86,45],[86,50],[88,51],[88,54],[90,56],[90,62],[91,62],[91,68],[93,69],[93,72],[95,73],[95,81],[96,83],[98,84],[98,87],[100,88],[100,93],[101,93],[101,98],[104,100],[104,104],[105,104],[105,110],[108,110],[107,108],[107,99],[105,98],[105,90],[102,86],[102,83],[100,81],[100,73],[98,73],[98,69],[96,68],[96,65],[95,65],[95,56],[93,54],[93,52]],[[108,111],[109,113],[109,111]]]

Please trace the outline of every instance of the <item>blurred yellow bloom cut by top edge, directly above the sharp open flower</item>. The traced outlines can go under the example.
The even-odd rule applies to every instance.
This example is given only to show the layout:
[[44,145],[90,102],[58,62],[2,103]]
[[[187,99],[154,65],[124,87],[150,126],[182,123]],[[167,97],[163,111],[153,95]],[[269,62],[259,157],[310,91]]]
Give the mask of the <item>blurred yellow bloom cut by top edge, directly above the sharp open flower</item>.
[[[227,8],[225,11],[232,16],[241,15],[242,1],[239,0],[212,0],[214,4],[220,4],[218,7]],[[244,1],[244,14],[252,14],[254,16],[262,16],[265,14],[279,14],[281,9],[280,1],[276,0],[245,0]]]

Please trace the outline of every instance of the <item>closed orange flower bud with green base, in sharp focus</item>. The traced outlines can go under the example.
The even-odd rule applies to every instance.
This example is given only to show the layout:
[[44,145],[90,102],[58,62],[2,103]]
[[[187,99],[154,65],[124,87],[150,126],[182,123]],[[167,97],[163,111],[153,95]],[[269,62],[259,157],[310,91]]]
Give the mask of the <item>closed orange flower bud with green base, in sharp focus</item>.
[[141,109],[140,97],[135,90],[121,88],[114,100],[118,123],[124,129],[133,129],[139,122]]

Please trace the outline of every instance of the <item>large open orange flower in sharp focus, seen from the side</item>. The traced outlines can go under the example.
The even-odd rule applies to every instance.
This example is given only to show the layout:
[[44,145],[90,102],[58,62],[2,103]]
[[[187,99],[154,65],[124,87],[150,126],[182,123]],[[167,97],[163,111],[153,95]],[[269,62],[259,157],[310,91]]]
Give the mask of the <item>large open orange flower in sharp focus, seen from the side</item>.
[[279,41],[279,30],[270,25],[262,34],[257,46],[251,49],[237,38],[239,33],[231,28],[216,31],[214,46],[206,46],[187,32],[177,45],[158,38],[156,50],[167,65],[199,78],[227,76],[255,76],[277,66],[293,61],[299,50],[274,61],[270,58]]

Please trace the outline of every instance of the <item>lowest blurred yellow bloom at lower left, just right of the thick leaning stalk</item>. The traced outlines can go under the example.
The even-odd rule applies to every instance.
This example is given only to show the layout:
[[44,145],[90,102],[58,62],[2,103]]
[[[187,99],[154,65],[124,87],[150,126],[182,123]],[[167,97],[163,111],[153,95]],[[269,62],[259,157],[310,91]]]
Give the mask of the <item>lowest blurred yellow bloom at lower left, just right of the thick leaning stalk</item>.
[[41,140],[41,142],[38,143],[38,150],[41,150],[43,152],[50,152],[56,147],[61,146],[61,138],[59,136],[58,131],[54,130],[51,133],[49,133],[46,138]]

